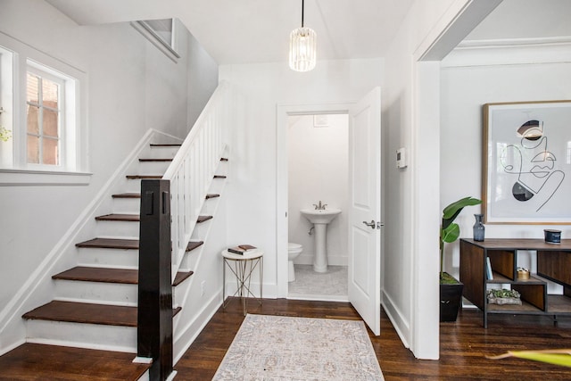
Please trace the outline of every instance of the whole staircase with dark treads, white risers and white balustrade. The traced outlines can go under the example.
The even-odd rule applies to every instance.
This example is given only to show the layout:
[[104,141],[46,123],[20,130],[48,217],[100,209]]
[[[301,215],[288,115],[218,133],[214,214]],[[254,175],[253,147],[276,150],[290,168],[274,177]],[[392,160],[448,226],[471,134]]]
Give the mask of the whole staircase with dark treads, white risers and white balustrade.
[[[53,300],[23,313],[26,343],[0,356],[0,379],[158,379],[156,367],[150,371],[149,364],[133,362],[135,353],[141,352],[142,338],[145,342],[146,337],[158,337],[139,330],[137,350],[137,319],[142,321],[141,314],[145,319],[149,311],[137,311],[140,207],[148,199],[147,193],[143,199],[140,195],[144,179],[170,184],[165,193],[170,195],[170,242],[161,238],[167,242],[161,251],[166,255],[169,247],[171,251],[171,277],[165,278],[172,279],[174,358],[171,354],[170,359],[182,356],[221,302],[218,257],[203,252],[219,253],[224,245],[219,243],[224,237],[217,233],[209,244],[204,241],[223,228],[222,224],[212,230],[211,220],[226,183],[228,159],[220,156],[226,154],[229,123],[236,123],[228,114],[228,102],[233,102],[234,96],[228,85],[222,84],[181,145],[137,145],[137,160],[132,159],[136,157],[132,153],[118,168],[105,186],[108,191],[97,197],[104,201],[95,202],[99,206],[93,207],[87,215],[90,219],[83,219],[84,228],[74,235],[79,241],[88,239],[67,244],[66,253],[70,254],[62,256],[54,267],[67,269],[55,270],[49,285],[45,283],[53,292],[44,295],[52,294]],[[143,141],[148,143],[153,136],[164,141],[158,131],[148,133]],[[142,242],[148,242],[149,237],[145,233]],[[71,250],[73,246],[75,250]],[[149,247],[145,245],[145,253]],[[154,253],[151,250],[151,255]],[[193,282],[195,269],[203,269],[200,288]],[[44,279],[48,280],[49,274]],[[161,357],[160,369],[167,369],[162,365],[164,359]],[[161,370],[160,377],[171,379],[175,374],[169,376]]]

